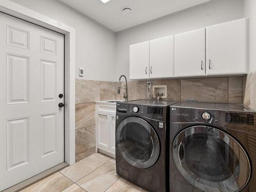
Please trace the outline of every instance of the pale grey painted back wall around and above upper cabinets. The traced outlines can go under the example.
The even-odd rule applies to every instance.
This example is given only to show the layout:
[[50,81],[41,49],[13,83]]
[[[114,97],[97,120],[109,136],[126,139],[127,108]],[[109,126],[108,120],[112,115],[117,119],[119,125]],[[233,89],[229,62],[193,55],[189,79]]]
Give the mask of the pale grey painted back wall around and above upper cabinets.
[[117,32],[116,79],[120,74],[129,77],[129,46],[132,44],[242,17],[242,0],[212,0]]

